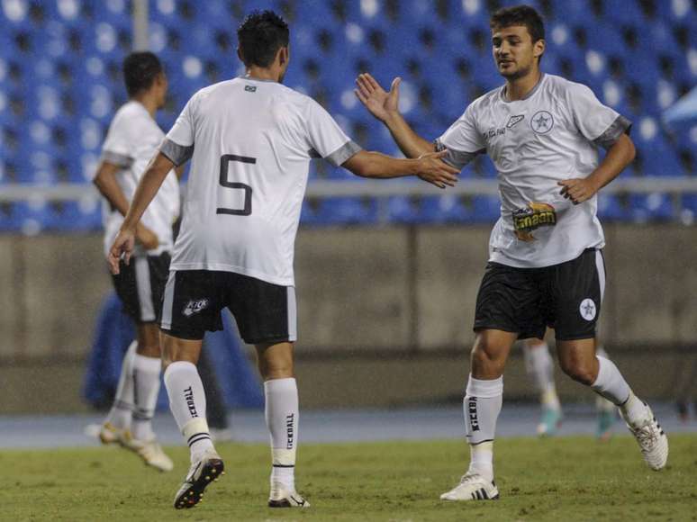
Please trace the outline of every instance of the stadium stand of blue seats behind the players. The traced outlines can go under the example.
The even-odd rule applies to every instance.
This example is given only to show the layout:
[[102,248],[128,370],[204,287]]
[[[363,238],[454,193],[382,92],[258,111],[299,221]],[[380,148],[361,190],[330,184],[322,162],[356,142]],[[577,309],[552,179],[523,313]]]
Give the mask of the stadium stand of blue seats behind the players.
[[[488,13],[513,4],[495,0],[157,0],[149,10],[150,49],[167,67],[171,99],[167,129],[197,89],[241,72],[235,28],[252,8],[274,7],[292,23],[294,64],[286,84],[318,99],[350,136],[394,153],[385,130],[353,95],[358,72],[384,85],[403,76],[403,112],[435,138],[475,96],[500,85],[490,58]],[[694,175],[697,135],[670,133],[661,112],[697,83],[697,13],[689,0],[538,0],[548,21],[543,69],[590,85],[604,103],[634,121],[638,159],[624,176]],[[562,13],[564,16],[559,16]],[[0,190],[3,184],[88,183],[106,126],[124,101],[120,64],[131,49],[130,3],[124,0],[12,0],[0,3]],[[348,175],[314,162],[312,179]],[[493,178],[488,159],[467,178]],[[357,183],[360,183],[357,180]],[[372,223],[493,221],[491,196],[376,202],[330,198],[307,202],[312,226]],[[678,205],[680,208],[680,205]],[[665,193],[608,194],[603,220],[674,219]],[[682,198],[680,216],[697,203]],[[90,230],[100,225],[94,203],[0,204],[0,230]]]

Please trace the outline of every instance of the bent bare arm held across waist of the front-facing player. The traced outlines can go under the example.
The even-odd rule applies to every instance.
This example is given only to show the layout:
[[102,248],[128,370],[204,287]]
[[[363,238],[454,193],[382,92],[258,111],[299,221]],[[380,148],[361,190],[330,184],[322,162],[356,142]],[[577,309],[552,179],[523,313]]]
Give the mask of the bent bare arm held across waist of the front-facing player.
[[627,134],[622,134],[608,149],[602,163],[588,177],[560,181],[559,185],[562,186],[560,193],[576,205],[582,203],[592,198],[594,193],[620,175],[635,156],[634,143]]

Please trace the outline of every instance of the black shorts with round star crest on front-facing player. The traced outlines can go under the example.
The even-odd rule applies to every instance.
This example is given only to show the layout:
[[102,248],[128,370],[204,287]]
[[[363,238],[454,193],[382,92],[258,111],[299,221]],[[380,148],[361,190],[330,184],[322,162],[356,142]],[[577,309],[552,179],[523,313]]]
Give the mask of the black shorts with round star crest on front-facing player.
[[547,327],[558,340],[595,338],[605,290],[602,251],[543,268],[488,263],[476,298],[475,330],[499,329],[519,338],[544,338]]

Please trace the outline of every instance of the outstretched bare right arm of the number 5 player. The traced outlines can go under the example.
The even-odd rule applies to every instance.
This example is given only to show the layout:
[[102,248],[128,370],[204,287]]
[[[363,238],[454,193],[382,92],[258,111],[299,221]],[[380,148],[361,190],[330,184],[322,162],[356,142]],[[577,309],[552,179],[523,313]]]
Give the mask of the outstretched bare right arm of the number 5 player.
[[441,158],[447,150],[430,152],[417,159],[399,159],[385,156],[379,152],[360,152],[349,157],[341,166],[355,175],[372,178],[403,177],[418,175],[423,181],[435,184],[439,188],[455,186],[459,170],[449,166]]

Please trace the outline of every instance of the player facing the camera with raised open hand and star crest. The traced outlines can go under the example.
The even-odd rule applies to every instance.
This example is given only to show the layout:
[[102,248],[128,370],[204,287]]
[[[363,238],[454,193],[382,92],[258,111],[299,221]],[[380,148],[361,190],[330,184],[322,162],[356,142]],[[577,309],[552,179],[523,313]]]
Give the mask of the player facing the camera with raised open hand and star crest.
[[[635,156],[630,122],[591,89],[543,74],[544,24],[527,5],[491,17],[493,59],[505,84],[476,99],[435,141],[421,138],[397,108],[399,78],[387,93],[367,74],[357,95],[391,131],[406,157],[446,150],[462,168],[487,153],[498,171],[500,219],[475,307],[475,343],[464,400],[471,462],[442,500],[498,498],[493,437],[501,411],[503,367],[518,338],[552,326],[566,374],[620,407],[644,460],[665,466],[668,442],[651,409],[610,360],[595,354],[595,324],[605,285],[604,238],[596,193]],[[597,147],[607,149],[599,162]]]

